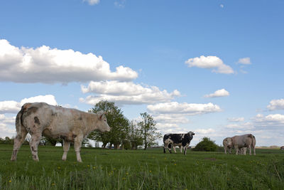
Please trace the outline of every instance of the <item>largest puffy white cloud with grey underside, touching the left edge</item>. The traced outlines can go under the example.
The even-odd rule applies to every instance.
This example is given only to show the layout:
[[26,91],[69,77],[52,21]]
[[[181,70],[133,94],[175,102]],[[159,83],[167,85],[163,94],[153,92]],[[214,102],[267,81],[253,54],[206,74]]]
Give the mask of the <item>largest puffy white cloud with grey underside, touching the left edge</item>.
[[90,80],[129,81],[138,77],[120,65],[111,72],[102,56],[48,46],[18,48],[0,40],[0,81],[15,83],[70,83]]

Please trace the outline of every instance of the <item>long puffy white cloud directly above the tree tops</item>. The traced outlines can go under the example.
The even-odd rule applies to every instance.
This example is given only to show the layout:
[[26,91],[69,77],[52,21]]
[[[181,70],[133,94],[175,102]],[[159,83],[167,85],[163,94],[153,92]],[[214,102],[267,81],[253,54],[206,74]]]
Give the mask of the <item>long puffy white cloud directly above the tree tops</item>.
[[88,87],[81,86],[82,93],[94,93],[86,98],[80,98],[80,102],[94,105],[101,100],[116,102],[117,105],[141,105],[155,102],[168,102],[174,97],[180,96],[178,90],[168,93],[156,86],[135,84],[132,82],[100,81],[90,82]]

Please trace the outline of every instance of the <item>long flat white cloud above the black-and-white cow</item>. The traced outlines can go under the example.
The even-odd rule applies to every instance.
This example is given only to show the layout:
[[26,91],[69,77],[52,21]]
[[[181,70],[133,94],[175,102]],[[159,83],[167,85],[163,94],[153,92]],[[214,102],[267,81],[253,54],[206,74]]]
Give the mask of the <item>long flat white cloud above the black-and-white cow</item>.
[[178,102],[165,102],[155,105],[148,105],[147,109],[153,113],[160,114],[184,114],[184,115],[198,115],[209,112],[220,112],[219,105],[214,105],[211,102],[207,104],[188,104]]

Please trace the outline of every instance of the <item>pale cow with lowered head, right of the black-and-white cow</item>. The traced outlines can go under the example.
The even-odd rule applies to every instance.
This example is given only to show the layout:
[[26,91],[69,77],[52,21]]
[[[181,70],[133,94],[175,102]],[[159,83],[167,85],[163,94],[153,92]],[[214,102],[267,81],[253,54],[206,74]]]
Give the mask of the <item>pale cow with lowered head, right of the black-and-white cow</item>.
[[[225,139],[224,139],[225,141]],[[224,145],[223,141],[223,145]],[[251,148],[253,148],[253,154],[256,155],[256,137],[253,136],[253,134],[243,134],[243,135],[236,135],[234,137],[226,138],[226,146],[230,148],[236,149],[236,154],[239,153],[239,149],[246,147],[249,149],[249,154],[251,155]],[[224,147],[225,149],[225,147]],[[244,152],[241,151],[241,153]],[[226,153],[226,149],[225,149]],[[246,154],[244,152],[244,154]]]

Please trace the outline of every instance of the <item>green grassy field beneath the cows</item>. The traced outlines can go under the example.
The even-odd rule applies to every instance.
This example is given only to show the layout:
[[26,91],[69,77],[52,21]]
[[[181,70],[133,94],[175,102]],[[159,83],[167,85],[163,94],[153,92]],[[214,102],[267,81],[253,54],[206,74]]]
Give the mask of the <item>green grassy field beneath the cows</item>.
[[162,149],[74,149],[62,162],[62,147],[28,146],[10,162],[11,145],[0,145],[0,189],[283,189],[284,152],[257,149],[256,156],[223,152],[163,154]]

